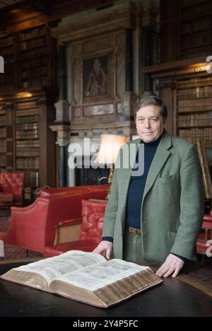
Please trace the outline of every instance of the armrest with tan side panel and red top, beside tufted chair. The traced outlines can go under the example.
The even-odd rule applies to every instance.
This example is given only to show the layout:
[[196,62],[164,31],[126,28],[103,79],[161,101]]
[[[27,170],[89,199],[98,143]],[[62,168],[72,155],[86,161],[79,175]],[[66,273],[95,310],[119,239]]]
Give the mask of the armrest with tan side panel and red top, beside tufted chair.
[[55,226],[56,233],[54,238],[54,245],[78,240],[79,229],[82,221],[83,220],[81,218],[78,218],[59,222],[57,226]]

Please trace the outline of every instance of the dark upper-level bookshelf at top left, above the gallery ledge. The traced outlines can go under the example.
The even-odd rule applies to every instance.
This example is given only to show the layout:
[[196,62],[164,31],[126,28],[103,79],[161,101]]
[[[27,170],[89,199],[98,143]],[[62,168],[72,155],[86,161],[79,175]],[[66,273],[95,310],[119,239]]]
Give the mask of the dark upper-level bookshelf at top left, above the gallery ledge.
[[0,93],[54,85],[56,40],[47,25],[0,36],[0,54],[5,63]]

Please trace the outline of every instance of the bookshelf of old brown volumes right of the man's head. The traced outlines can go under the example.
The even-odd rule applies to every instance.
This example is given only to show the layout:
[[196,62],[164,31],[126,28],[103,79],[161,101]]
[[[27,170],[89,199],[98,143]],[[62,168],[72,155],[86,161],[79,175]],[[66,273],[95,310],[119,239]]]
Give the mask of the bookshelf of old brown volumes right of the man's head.
[[177,133],[196,144],[212,140],[212,77],[177,81]]

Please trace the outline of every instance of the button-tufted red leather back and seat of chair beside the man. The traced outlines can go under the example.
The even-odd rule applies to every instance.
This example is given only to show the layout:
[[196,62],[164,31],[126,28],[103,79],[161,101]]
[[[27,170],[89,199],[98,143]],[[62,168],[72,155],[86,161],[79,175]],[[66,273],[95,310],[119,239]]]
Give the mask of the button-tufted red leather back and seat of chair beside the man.
[[45,256],[55,256],[68,250],[92,252],[102,239],[102,228],[107,201],[82,200],[83,223],[79,238],[70,243],[61,243],[45,249]]

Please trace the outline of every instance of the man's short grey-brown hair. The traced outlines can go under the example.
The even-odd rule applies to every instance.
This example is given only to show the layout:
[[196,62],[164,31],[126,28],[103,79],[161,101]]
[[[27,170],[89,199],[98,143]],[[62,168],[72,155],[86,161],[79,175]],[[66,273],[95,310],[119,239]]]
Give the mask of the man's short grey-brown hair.
[[160,99],[156,95],[148,95],[146,97],[139,98],[136,101],[135,112],[134,112],[135,120],[136,120],[136,113],[142,107],[145,107],[146,105],[157,105],[157,106],[159,106],[160,107],[160,113],[161,113],[161,115],[163,117],[163,120],[165,122],[165,120],[167,119],[167,106],[165,105],[165,103],[163,102],[163,100]]

